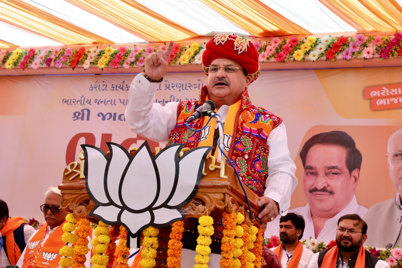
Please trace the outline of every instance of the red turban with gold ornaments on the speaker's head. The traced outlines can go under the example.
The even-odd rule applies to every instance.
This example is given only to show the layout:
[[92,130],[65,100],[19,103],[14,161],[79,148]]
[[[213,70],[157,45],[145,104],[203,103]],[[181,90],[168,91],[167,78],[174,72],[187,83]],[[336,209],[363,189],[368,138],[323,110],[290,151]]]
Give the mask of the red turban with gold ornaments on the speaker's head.
[[208,66],[215,59],[226,58],[238,62],[251,76],[251,81],[260,74],[258,52],[251,40],[238,35],[215,35],[205,45],[202,54],[202,64],[205,74],[208,75]]

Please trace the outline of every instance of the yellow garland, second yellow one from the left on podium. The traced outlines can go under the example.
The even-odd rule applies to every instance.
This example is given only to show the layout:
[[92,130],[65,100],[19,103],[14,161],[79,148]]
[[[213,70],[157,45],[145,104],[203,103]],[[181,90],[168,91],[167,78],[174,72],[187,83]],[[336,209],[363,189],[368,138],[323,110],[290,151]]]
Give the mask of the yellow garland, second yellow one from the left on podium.
[[91,258],[92,268],[106,268],[109,257],[104,253],[110,242],[109,225],[99,220],[98,226],[94,230],[95,239],[92,240],[92,252],[94,256]]

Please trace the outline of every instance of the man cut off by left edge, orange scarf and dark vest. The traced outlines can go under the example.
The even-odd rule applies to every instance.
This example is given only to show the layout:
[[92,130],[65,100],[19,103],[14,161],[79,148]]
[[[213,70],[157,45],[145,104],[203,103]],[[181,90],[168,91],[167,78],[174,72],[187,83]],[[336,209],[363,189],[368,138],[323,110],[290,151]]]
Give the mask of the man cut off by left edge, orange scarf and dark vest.
[[0,250],[0,268],[18,262],[34,231],[22,217],[9,217],[7,203],[0,199],[0,233],[4,243]]

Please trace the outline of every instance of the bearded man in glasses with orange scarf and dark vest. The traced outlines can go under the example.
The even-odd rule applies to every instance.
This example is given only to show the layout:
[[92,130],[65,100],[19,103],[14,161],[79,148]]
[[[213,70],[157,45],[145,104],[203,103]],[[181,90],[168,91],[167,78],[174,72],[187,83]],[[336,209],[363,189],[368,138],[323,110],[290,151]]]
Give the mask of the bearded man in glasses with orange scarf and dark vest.
[[308,268],[389,268],[385,261],[364,249],[366,233],[367,223],[358,214],[340,217],[336,230],[336,246],[316,253]]

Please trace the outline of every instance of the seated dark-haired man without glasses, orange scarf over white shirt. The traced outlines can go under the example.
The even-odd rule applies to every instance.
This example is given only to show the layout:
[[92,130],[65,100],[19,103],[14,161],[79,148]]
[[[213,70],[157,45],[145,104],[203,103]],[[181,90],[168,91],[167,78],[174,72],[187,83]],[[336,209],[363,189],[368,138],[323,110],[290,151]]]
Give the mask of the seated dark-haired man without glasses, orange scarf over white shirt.
[[278,255],[283,268],[306,268],[314,253],[301,245],[299,239],[304,232],[304,219],[296,213],[287,213],[279,219],[281,242],[271,250]]

